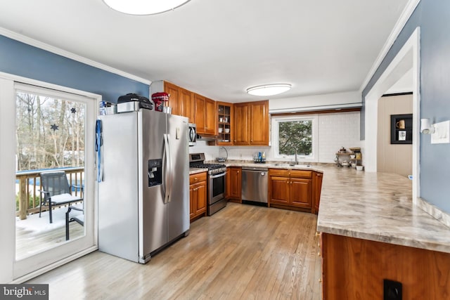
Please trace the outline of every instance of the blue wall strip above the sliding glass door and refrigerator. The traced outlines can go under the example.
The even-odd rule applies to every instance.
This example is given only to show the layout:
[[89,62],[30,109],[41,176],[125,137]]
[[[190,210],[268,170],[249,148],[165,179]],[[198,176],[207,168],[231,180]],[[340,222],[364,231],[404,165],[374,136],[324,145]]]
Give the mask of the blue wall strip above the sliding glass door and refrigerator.
[[0,35],[0,72],[67,86],[117,102],[125,93],[148,97],[148,84],[128,79],[76,60]]

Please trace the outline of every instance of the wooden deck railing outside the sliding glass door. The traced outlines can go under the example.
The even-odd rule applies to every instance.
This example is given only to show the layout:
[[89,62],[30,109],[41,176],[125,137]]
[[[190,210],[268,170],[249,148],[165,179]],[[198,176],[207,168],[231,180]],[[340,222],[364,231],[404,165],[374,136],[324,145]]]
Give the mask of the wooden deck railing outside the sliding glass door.
[[[39,173],[42,171],[51,170],[32,170],[32,171],[20,171],[15,174],[15,179],[18,181],[18,209],[16,209],[16,216],[20,220],[27,219],[27,214],[34,214],[39,211],[39,204],[41,199],[42,190],[41,180]],[[56,171],[56,170],[55,170]],[[79,168],[60,168],[57,171],[65,171],[68,176],[69,185],[83,185],[84,184],[84,167]],[[81,190],[78,188],[71,189],[72,195],[81,196]]]

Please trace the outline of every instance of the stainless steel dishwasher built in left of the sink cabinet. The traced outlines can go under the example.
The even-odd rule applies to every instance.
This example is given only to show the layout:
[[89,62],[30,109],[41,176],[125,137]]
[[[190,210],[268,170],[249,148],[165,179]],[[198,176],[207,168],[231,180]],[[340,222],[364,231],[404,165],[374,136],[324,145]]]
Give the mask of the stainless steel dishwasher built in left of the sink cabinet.
[[260,202],[267,205],[268,174],[267,168],[242,168],[243,202]]

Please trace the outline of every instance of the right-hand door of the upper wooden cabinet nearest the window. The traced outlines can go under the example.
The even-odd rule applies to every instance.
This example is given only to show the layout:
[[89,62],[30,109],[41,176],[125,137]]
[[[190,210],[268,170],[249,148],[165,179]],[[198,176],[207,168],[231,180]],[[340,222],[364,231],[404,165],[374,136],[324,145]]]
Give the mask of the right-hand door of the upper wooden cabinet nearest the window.
[[250,105],[250,144],[269,145],[269,101]]

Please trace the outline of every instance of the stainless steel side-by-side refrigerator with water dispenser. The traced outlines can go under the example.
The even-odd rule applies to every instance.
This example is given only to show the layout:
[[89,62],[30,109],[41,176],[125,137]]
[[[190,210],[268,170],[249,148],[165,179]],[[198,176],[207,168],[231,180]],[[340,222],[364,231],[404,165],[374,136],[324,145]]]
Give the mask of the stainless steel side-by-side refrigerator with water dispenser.
[[188,118],[103,115],[98,248],[146,263],[189,230]]

